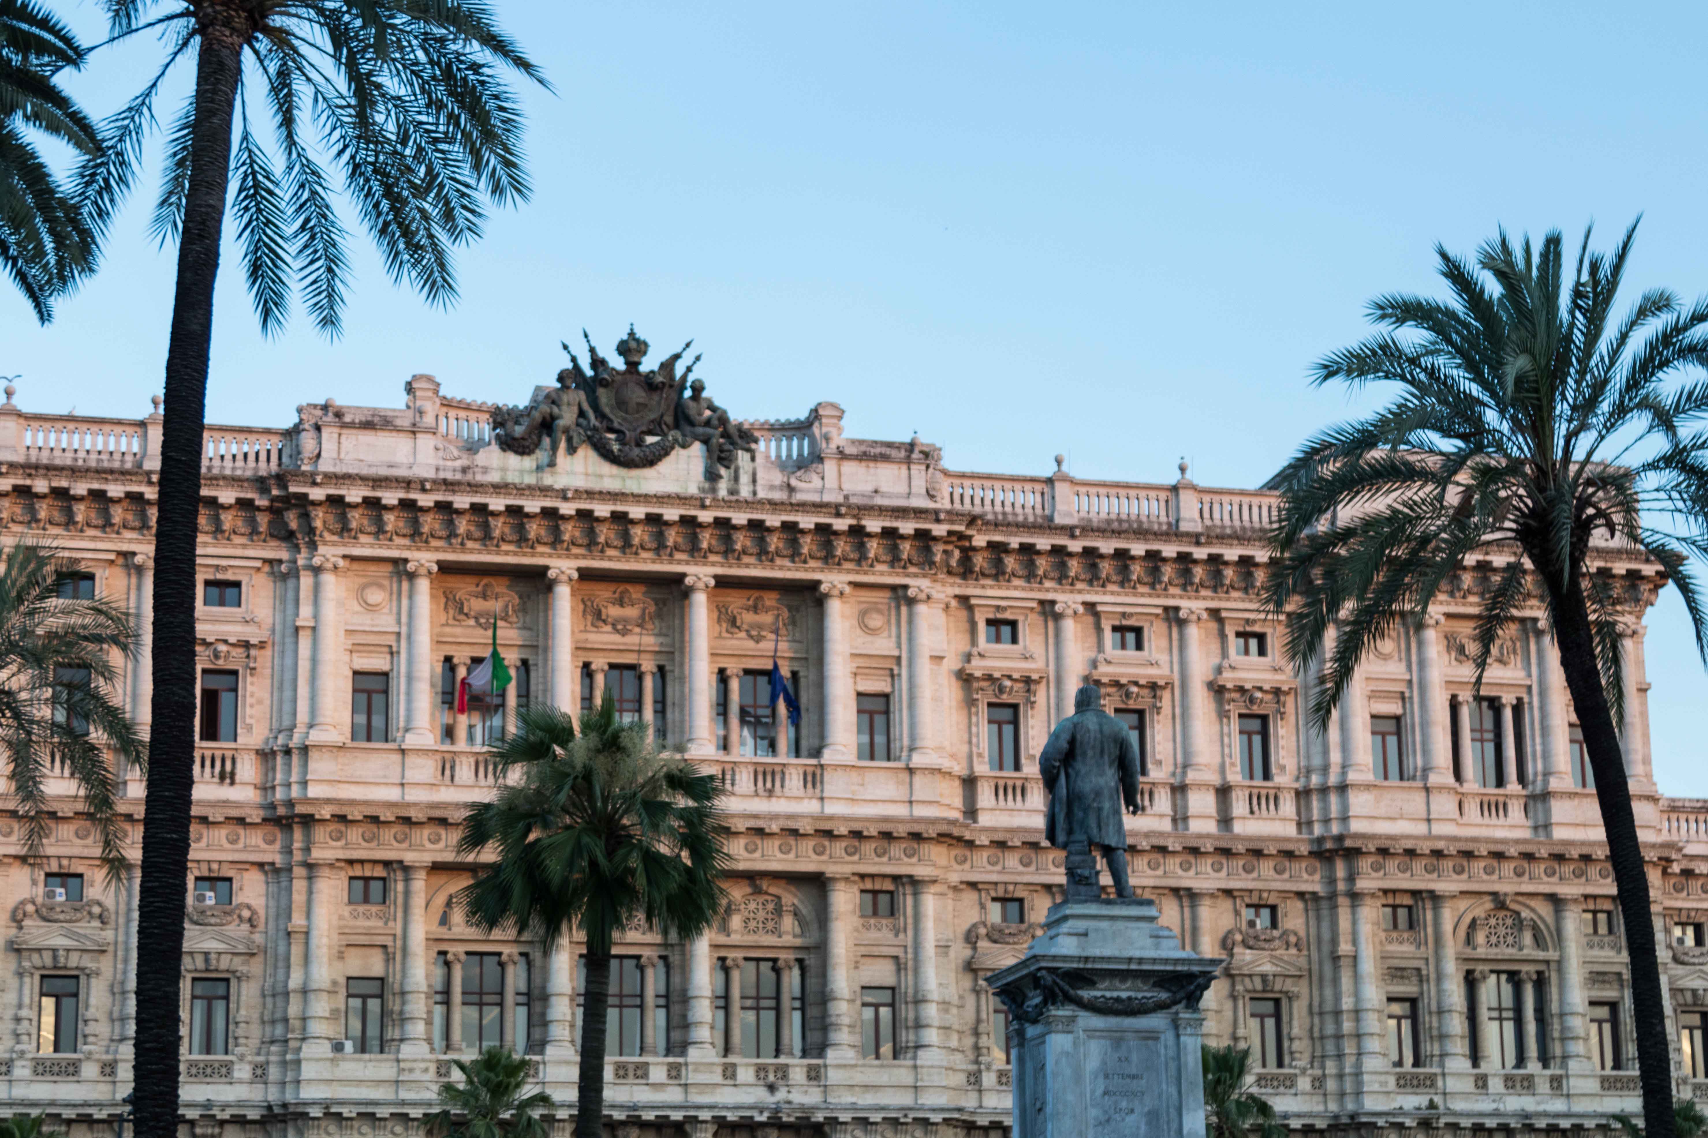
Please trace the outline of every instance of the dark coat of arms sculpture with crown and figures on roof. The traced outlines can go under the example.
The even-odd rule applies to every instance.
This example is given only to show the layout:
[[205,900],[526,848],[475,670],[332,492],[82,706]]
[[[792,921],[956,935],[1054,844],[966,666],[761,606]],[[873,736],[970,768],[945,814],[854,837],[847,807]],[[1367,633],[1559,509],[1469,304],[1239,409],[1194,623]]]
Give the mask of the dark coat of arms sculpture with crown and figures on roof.
[[681,375],[676,363],[693,345],[668,357],[658,369],[640,370],[640,362],[651,345],[629,334],[617,343],[623,367],[613,369],[600,355],[582,329],[588,343],[591,374],[565,343],[570,367],[557,374],[557,391],[538,391],[524,408],[500,406],[492,409],[494,440],[514,454],[538,454],[547,449],[547,466],[557,466],[559,452],[574,454],[591,445],[600,457],[617,466],[658,466],[678,447],[702,444],[705,447],[705,479],[717,481],[734,466],[736,454],[753,454],[758,438],[753,432],[729,418],[705,394],[704,380],[688,380],[693,357]]

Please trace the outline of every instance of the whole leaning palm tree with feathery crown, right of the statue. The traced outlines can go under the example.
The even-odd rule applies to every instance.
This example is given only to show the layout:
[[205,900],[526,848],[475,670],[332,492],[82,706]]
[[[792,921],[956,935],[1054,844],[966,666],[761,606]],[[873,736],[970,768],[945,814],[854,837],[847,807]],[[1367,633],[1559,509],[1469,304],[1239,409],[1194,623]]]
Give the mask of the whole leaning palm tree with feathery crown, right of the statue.
[[[1274,476],[1266,599],[1286,614],[1295,665],[1337,628],[1312,718],[1324,727],[1370,647],[1423,614],[1471,558],[1500,566],[1477,607],[1476,684],[1518,609],[1541,602],[1595,776],[1631,959],[1645,1129],[1672,1138],[1672,1078],[1655,925],[1619,730],[1619,621],[1640,602],[1597,572],[1592,546],[1647,553],[1677,585],[1708,650],[1689,556],[1708,551],[1708,302],[1665,290],[1614,322],[1633,224],[1612,253],[1585,232],[1565,273],[1558,232],[1539,247],[1501,232],[1476,268],[1440,246],[1450,300],[1385,295],[1387,331],[1325,357],[1317,384],[1397,384],[1368,418],[1308,440]],[[1640,510],[1643,514],[1640,514]],[[1635,606],[1635,609],[1633,609]]]

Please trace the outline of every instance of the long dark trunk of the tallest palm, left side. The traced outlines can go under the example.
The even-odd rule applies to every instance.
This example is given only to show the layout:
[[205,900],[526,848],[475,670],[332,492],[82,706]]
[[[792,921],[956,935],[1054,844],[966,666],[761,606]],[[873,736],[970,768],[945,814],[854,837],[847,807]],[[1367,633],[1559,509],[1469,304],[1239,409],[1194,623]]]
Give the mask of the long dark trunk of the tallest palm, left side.
[[202,423],[214,334],[232,109],[248,19],[198,19],[196,121],[178,246],[178,290],[166,353],[161,505],[154,527],[154,727],[137,904],[137,1138],[178,1136],[179,973],[196,722],[196,520],[202,507]]

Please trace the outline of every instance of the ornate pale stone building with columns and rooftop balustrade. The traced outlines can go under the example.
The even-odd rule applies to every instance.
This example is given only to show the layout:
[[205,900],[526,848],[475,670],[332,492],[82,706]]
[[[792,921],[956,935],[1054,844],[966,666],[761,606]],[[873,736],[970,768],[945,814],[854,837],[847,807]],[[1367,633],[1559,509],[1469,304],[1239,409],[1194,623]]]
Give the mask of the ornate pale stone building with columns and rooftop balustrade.
[[[576,947],[466,930],[447,901],[482,744],[526,701],[610,691],[728,787],[731,904],[705,938],[625,937],[620,1136],[997,1138],[984,978],[1056,897],[1035,756],[1090,681],[1138,737],[1136,887],[1225,955],[1208,1039],[1250,1046],[1298,1129],[1602,1126],[1636,1112],[1611,872],[1535,619],[1472,700],[1494,565],[1380,647],[1327,734],[1261,611],[1269,495],[962,474],[938,447],[731,421],[627,338],[524,408],[417,375],[207,432],[202,739],[184,942],[196,1138],[417,1135],[447,1054],[538,1056],[574,1099]],[[678,353],[680,355],[680,353]],[[692,370],[692,365],[690,365]],[[147,626],[159,406],[0,406],[5,541],[51,537]],[[1658,797],[1641,616],[1626,730],[1667,943],[1679,1094],[1708,1092],[1708,804]],[[492,642],[516,682],[454,691]],[[777,715],[775,655],[801,718]],[[130,669],[142,720],[149,677]],[[63,783],[60,790],[68,792]],[[137,822],[142,781],[128,778]],[[135,834],[135,824],[133,824]],[[67,798],[26,863],[0,816],[0,1092],[108,1135],[128,1090],[135,877],[104,885]],[[61,892],[63,891],[63,892]],[[567,1133],[567,1123],[560,1123]]]

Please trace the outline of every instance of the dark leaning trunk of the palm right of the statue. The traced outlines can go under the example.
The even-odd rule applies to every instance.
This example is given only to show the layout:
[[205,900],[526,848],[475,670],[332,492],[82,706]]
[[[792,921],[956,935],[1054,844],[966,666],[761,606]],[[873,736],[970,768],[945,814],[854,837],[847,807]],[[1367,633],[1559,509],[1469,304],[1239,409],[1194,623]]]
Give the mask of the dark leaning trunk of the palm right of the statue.
[[[1554,604],[1554,636],[1559,665],[1566,674],[1571,705],[1583,730],[1583,749],[1595,771],[1595,798],[1607,831],[1607,860],[1619,891],[1624,949],[1631,959],[1631,1020],[1636,1032],[1636,1066],[1643,1087],[1643,1133],[1672,1138],[1672,1051],[1667,1042],[1665,1002],[1660,993],[1660,964],[1655,955],[1655,914],[1648,901],[1648,872],[1631,812],[1631,787],[1624,776],[1624,754],[1614,729],[1590,628],[1583,582],[1573,573],[1570,587]],[[1626,708],[1635,715],[1636,708]]]

